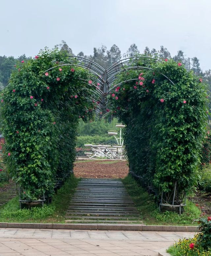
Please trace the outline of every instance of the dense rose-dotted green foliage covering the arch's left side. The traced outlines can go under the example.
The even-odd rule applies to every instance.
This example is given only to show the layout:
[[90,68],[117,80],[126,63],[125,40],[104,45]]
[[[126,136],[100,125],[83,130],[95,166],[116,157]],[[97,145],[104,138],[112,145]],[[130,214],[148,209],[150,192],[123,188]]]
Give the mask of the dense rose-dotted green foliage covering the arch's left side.
[[55,182],[70,174],[79,116],[92,118],[89,73],[58,62],[68,59],[57,50],[21,62],[2,93],[5,163],[22,199],[51,195]]

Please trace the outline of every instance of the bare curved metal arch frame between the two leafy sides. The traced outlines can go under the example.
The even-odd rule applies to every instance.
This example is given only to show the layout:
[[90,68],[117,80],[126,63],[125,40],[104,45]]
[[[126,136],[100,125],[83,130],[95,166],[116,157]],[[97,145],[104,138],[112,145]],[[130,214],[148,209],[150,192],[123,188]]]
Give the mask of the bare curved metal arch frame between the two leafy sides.
[[[138,80],[137,78],[128,79],[114,85],[113,82],[116,80],[119,74],[121,74],[122,72],[126,72],[127,74],[127,71],[129,70],[143,70],[143,69],[153,70],[150,67],[152,63],[164,62],[163,60],[160,60],[154,57],[137,55],[137,56],[121,59],[105,70],[98,63],[80,56],[68,55],[67,61],[68,61],[67,63],[65,63],[64,61],[57,63],[56,60],[54,60],[52,61],[52,63],[56,63],[57,65],[47,69],[45,72],[50,71],[54,68],[62,67],[62,66],[71,66],[72,68],[76,66],[76,67],[80,67],[87,70],[87,72],[90,72],[90,79],[93,79],[100,84],[99,86],[93,83],[90,84],[92,88],[95,87],[96,89],[98,89],[98,91],[92,90],[93,99],[96,102],[97,101],[100,102],[100,104],[96,104],[96,109],[95,109],[97,118],[99,118],[100,112],[105,112],[104,114],[101,115],[101,118],[106,117],[106,115],[109,113],[106,110],[107,103],[108,103],[108,100],[106,100],[106,97],[112,89],[121,85],[122,83],[129,82],[132,80]],[[146,64],[148,64],[148,66],[142,66],[142,65],[139,66],[139,63],[138,63],[139,61],[145,61]],[[158,73],[174,85],[174,82],[170,80],[166,75],[160,72]],[[87,81],[83,78],[80,78],[80,80]],[[88,88],[85,88],[85,87],[83,87],[83,89],[89,90]]]

